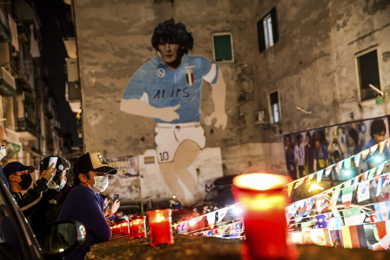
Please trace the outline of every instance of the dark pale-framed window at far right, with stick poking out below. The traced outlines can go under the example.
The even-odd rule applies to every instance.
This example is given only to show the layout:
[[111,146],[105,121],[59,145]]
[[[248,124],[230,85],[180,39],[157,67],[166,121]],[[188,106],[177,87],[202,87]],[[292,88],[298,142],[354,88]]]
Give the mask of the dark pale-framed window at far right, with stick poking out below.
[[360,85],[360,99],[367,100],[378,96],[378,93],[369,87],[369,84],[381,90],[379,80],[378,49],[370,48],[355,55]]

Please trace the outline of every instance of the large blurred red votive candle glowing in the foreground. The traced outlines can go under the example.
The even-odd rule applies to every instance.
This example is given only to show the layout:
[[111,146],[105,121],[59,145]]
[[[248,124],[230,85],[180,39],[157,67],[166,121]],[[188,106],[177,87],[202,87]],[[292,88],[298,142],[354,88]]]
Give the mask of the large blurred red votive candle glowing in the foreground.
[[285,207],[289,202],[282,175],[252,173],[233,179],[233,194],[241,202],[245,225],[243,259],[291,260],[297,257],[294,245],[287,244]]

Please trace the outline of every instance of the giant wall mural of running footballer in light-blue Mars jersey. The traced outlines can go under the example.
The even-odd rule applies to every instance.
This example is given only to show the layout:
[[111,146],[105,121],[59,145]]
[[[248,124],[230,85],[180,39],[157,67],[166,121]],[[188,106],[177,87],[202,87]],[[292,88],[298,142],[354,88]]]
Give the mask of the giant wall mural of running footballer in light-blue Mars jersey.
[[160,23],[152,36],[158,55],[142,65],[123,93],[120,109],[154,118],[156,151],[161,173],[178,198],[184,198],[179,179],[192,194],[199,192],[187,171],[206,145],[200,124],[202,80],[211,83],[214,111],[210,119],[225,129],[226,85],[218,66],[202,56],[188,55],[193,37],[172,18]]

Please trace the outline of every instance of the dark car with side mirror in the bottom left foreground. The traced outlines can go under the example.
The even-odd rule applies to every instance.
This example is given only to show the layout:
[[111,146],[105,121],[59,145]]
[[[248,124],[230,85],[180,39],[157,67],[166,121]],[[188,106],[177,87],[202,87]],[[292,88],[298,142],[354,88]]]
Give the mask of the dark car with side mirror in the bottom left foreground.
[[41,246],[3,180],[0,180],[0,259],[62,259],[85,241],[77,221],[57,221],[42,228]]

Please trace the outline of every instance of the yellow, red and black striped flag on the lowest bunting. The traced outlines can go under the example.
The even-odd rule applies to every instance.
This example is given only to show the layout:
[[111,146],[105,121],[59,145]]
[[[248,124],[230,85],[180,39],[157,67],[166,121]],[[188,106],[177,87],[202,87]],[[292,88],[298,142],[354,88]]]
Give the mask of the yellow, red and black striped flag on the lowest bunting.
[[342,241],[344,248],[368,248],[364,226],[342,226]]

